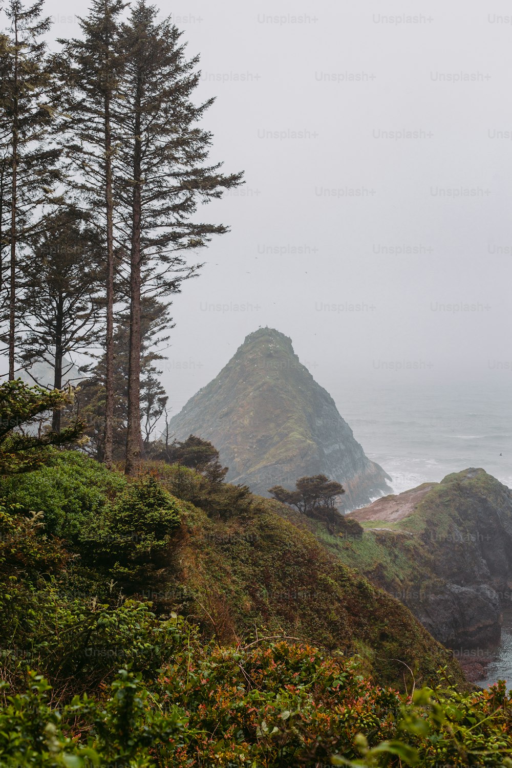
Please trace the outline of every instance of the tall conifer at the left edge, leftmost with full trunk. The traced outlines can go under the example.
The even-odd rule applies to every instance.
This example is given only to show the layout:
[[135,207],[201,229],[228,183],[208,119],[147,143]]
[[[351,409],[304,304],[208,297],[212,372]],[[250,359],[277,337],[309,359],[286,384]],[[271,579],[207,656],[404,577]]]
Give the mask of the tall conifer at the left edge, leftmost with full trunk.
[[8,249],[4,341],[9,379],[15,377],[18,257],[27,238],[41,228],[43,207],[60,177],[51,137],[58,88],[42,39],[51,26],[49,18],[41,18],[42,6],[43,0],[29,6],[9,0],[5,13],[10,26],[0,42],[0,212],[2,243]]

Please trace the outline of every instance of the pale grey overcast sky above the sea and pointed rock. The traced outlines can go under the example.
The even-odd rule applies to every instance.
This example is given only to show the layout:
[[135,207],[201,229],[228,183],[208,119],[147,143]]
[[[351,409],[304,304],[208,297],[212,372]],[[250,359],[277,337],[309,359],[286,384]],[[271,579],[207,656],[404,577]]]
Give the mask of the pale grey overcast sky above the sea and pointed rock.
[[[48,0],[55,37],[87,2]],[[212,159],[246,185],[173,305],[173,412],[247,333],[320,383],[508,382],[512,7],[160,3],[200,53]],[[397,365],[398,364],[398,365]]]

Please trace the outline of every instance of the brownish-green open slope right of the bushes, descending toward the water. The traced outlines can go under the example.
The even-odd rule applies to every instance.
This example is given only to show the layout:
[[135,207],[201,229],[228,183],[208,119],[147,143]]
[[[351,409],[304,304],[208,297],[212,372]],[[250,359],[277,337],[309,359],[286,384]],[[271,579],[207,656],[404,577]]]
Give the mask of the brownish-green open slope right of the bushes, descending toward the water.
[[[176,492],[172,480],[162,482]],[[191,595],[184,611],[225,642],[256,637],[256,626],[259,634],[284,632],[362,654],[386,682],[399,682],[404,664],[423,683],[445,664],[463,680],[451,654],[406,607],[347,568],[312,532],[283,519],[279,508],[253,497],[249,511],[222,519],[189,505],[171,584],[171,594],[184,585]]]

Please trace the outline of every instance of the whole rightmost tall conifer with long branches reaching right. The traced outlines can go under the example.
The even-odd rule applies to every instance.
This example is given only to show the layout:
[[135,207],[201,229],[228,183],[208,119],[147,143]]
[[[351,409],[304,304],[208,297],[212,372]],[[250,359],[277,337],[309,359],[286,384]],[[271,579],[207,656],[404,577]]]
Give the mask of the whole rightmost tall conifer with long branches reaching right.
[[197,274],[184,251],[205,246],[223,224],[194,220],[200,203],[241,183],[208,165],[211,134],[198,127],[213,99],[191,101],[199,84],[198,58],[187,60],[180,31],[157,8],[138,0],[122,27],[124,74],[120,81],[116,138],[122,240],[129,254],[130,350],[127,392],[126,472],[142,451],[140,431],[141,298],[180,291]]

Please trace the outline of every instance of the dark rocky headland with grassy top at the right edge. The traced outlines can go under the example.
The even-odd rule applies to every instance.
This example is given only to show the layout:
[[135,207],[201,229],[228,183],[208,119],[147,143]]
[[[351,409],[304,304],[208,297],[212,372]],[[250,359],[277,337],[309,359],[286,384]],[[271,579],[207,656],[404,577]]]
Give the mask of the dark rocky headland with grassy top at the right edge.
[[405,603],[438,641],[486,649],[499,640],[512,599],[509,488],[467,469],[350,517],[365,528],[365,544],[342,544],[342,560]]

